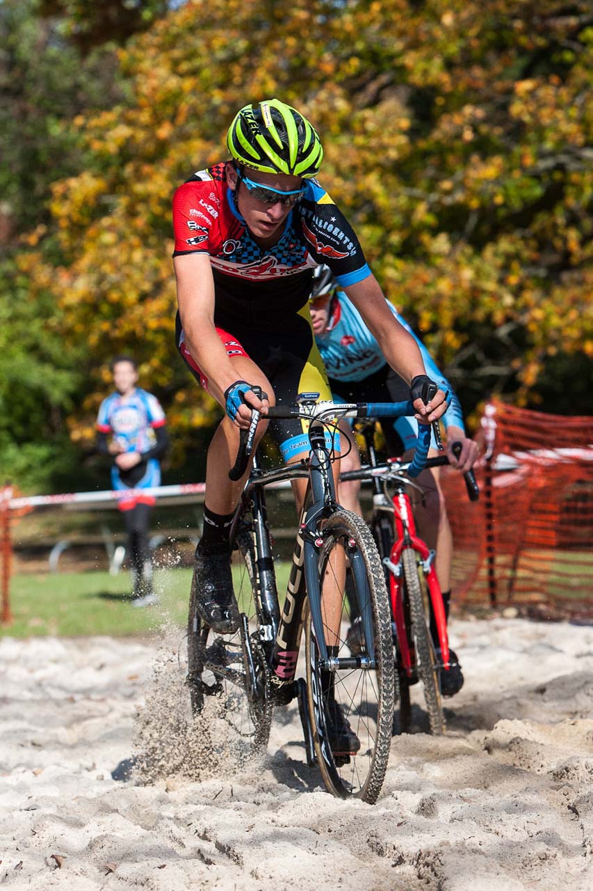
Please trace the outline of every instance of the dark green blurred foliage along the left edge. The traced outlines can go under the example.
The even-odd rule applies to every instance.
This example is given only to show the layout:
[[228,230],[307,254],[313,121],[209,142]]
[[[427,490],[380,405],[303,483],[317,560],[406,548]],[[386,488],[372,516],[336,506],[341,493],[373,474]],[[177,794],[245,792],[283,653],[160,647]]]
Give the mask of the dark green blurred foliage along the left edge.
[[53,292],[31,288],[16,265],[20,234],[44,227],[45,261],[59,261],[48,198],[84,164],[72,119],[121,99],[114,53],[83,60],[61,21],[38,13],[38,0],[0,2],[0,453],[4,479],[36,488],[80,463],[66,418],[86,386],[87,350],[64,349]]

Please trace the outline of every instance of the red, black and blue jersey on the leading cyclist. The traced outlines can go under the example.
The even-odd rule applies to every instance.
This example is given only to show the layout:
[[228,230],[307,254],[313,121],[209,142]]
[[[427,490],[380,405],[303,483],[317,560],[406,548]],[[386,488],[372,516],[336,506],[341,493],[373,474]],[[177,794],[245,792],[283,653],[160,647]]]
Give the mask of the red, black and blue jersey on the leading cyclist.
[[199,170],[175,192],[174,257],[207,253],[215,280],[215,323],[232,330],[274,328],[309,297],[313,268],[325,263],[342,287],[370,275],[361,244],[344,214],[314,179],[291,209],[284,231],[261,248],[226,182],[226,162]]

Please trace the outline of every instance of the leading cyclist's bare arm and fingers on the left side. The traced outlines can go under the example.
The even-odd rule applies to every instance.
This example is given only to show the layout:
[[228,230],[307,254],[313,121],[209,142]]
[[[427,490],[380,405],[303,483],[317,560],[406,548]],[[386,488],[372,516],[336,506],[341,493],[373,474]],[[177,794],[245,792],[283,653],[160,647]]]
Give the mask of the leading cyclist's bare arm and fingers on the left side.
[[[173,262],[185,342],[208,379],[210,393],[224,407],[224,391],[238,379],[238,373],[215,329],[215,286],[210,257],[206,253],[187,254],[175,257]],[[250,405],[265,412],[267,403],[264,405],[251,391],[247,396]],[[247,428],[250,421],[250,409],[241,405],[235,422]]]

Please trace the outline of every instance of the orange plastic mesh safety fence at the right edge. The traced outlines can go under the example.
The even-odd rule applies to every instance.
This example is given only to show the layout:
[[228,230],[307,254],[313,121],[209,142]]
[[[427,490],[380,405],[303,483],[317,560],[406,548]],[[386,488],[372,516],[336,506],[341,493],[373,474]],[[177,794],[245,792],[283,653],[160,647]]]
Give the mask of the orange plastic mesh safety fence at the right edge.
[[593,418],[495,403],[481,439],[478,503],[443,474],[456,599],[593,615]]

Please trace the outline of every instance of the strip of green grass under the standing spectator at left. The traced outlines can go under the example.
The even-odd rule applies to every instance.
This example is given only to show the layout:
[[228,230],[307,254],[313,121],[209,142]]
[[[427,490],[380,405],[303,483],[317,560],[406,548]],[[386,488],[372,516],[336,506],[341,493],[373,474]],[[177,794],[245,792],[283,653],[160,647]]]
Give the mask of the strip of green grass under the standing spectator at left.
[[[277,567],[280,601],[286,591],[288,563]],[[163,623],[185,625],[191,569],[157,569],[157,607],[135,609],[126,572],[47,573],[14,576],[11,582],[12,624],[1,626],[0,636],[31,637],[53,634],[79,637],[109,634],[158,633]]]

